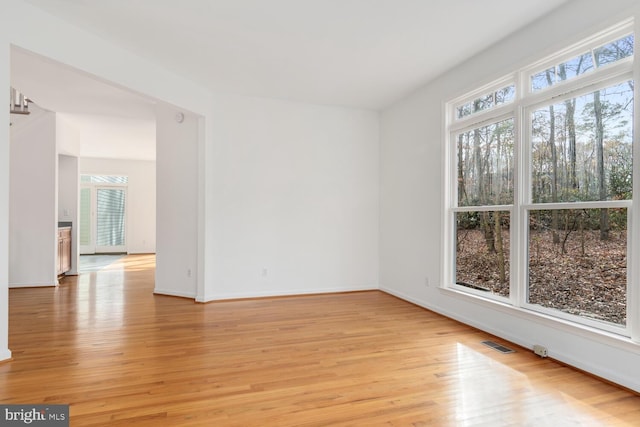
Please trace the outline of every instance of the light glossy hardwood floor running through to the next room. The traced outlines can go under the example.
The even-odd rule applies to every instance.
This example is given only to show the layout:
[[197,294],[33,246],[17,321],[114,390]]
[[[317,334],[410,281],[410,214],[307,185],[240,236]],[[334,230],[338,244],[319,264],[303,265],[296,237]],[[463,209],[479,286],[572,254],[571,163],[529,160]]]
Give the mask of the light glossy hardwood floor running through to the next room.
[[72,426],[640,425],[640,396],[382,292],[197,304],[153,278],[127,256],[10,290],[0,403]]

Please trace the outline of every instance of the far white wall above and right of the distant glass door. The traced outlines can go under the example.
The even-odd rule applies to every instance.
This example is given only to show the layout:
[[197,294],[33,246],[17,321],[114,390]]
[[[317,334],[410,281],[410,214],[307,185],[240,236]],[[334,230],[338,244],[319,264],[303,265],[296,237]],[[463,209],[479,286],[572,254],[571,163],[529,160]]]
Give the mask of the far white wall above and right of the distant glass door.
[[155,162],[82,157],[79,165],[81,175],[123,175],[129,177],[125,224],[127,253],[155,252]]

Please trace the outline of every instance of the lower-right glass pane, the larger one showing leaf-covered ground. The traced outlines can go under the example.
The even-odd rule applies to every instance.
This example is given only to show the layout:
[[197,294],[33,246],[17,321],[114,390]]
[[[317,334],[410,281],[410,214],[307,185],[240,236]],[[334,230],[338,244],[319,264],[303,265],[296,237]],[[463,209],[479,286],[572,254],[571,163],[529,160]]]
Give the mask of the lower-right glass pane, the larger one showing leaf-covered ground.
[[529,213],[528,302],[626,324],[627,210]]

